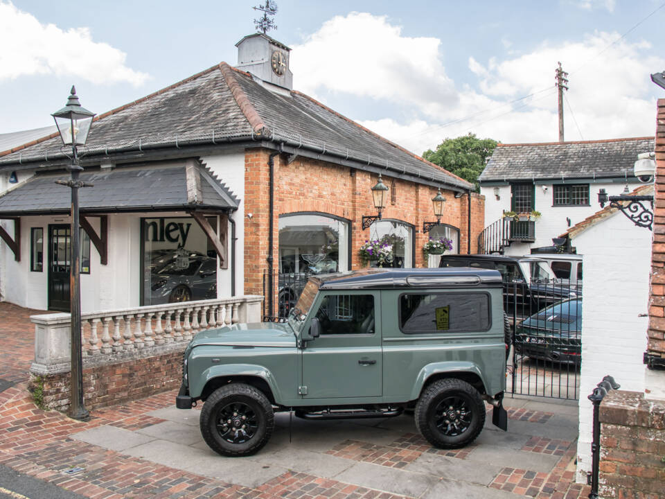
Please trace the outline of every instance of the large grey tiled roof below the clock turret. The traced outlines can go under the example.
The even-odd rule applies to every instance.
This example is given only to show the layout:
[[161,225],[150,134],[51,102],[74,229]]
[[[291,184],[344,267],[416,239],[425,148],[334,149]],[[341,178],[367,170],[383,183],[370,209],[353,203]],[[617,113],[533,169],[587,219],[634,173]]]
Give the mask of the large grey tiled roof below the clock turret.
[[[96,117],[85,154],[248,141],[272,141],[316,152],[355,168],[472,189],[469,182],[380,137],[297,91],[269,91],[222,62],[186,80]],[[0,152],[0,168],[62,158],[58,137]],[[346,164],[345,163],[345,164]]]

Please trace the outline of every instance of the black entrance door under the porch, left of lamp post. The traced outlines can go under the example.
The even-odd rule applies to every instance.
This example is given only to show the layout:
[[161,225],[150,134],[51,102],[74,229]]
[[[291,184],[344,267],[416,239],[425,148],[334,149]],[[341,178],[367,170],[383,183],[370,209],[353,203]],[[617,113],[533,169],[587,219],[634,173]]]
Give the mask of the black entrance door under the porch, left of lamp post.
[[69,312],[69,225],[48,226],[48,310]]

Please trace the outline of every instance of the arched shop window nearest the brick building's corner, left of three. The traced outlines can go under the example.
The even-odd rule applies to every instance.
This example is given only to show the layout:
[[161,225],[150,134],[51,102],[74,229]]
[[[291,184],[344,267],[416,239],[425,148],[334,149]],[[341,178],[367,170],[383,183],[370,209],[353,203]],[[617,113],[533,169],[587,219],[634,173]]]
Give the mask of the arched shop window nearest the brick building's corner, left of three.
[[319,213],[279,218],[279,272],[328,274],[348,270],[348,221]]

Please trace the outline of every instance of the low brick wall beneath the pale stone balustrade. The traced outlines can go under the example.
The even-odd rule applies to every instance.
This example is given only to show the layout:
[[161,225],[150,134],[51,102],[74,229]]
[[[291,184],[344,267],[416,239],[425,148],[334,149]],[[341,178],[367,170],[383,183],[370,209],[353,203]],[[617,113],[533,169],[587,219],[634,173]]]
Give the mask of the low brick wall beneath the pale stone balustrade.
[[[185,347],[183,343],[180,351],[83,369],[86,408],[103,408],[179,387]],[[69,380],[69,371],[44,376],[30,374],[28,389],[34,393],[40,387],[44,407],[64,412],[69,408]]]

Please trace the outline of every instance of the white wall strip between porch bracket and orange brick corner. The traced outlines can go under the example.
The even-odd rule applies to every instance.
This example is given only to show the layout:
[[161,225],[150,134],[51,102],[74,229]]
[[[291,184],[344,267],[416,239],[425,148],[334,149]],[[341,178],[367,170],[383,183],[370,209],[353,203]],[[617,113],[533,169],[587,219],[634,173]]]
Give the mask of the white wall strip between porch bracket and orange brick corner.
[[[202,161],[217,175],[218,179],[240,199],[238,211],[231,214],[236,221],[236,295],[244,295],[245,290],[245,151],[226,155],[207,156]],[[231,224],[229,223],[229,268],[218,269],[217,295],[220,298],[231,296]]]

